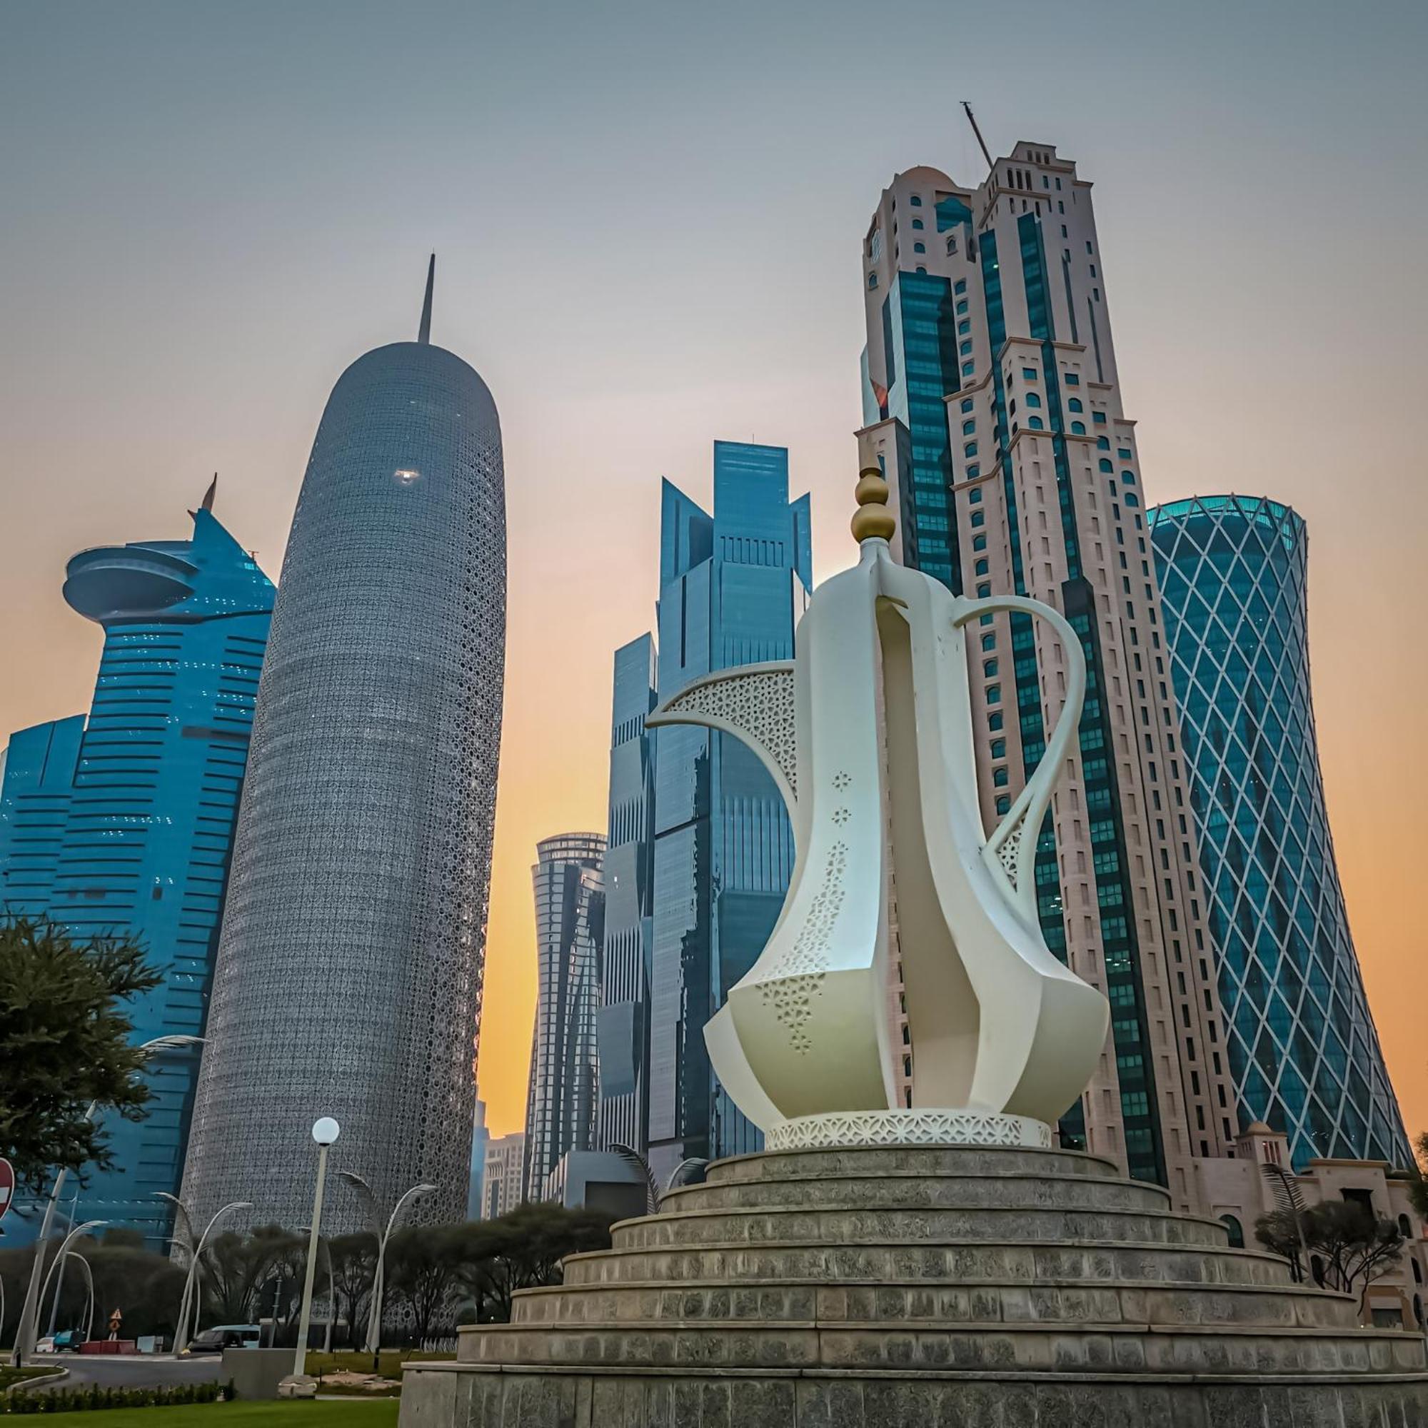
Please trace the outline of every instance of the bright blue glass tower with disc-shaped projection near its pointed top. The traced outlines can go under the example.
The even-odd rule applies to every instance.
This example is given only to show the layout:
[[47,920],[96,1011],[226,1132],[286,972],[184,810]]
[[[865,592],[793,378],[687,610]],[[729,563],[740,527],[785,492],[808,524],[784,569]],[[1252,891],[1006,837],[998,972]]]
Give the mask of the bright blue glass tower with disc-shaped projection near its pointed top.
[[[273,583],[218,524],[213,488],[193,538],[76,555],[64,598],[104,630],[83,717],[10,740],[0,788],[0,904],[76,937],[143,942],[164,980],[131,1004],[134,1041],[204,1030],[228,854],[248,755]],[[106,1121],[113,1168],[76,1214],[143,1230],[170,1221],[200,1048],[149,1062],[141,1121]]]

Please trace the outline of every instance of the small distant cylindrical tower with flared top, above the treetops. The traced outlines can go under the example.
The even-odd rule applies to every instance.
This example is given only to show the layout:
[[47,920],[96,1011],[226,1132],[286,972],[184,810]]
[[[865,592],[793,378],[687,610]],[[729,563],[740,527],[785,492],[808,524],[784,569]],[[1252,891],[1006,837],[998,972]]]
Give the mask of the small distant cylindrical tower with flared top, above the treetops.
[[563,833],[536,845],[536,1031],[526,1095],[526,1200],[545,1200],[545,1177],[565,1151],[588,1151],[595,1131],[595,1012],[604,890],[598,833]]

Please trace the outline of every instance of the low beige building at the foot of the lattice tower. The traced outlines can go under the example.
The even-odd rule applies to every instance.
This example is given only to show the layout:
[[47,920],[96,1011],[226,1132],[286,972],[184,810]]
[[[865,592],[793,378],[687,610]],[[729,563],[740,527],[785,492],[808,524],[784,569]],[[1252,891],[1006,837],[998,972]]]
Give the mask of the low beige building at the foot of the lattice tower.
[[1387,1161],[1349,1160],[1314,1160],[1302,1174],[1294,1174],[1287,1137],[1255,1121],[1235,1141],[1232,1157],[1195,1161],[1201,1204],[1230,1227],[1232,1241],[1251,1248],[1255,1221],[1278,1208],[1278,1177],[1272,1170],[1267,1172],[1267,1165],[1288,1172],[1305,1205],[1358,1201],[1374,1215],[1398,1222],[1408,1244],[1398,1264],[1368,1287],[1362,1317],[1365,1324],[1422,1331],[1428,1314],[1428,1230],[1409,1202],[1407,1175]]

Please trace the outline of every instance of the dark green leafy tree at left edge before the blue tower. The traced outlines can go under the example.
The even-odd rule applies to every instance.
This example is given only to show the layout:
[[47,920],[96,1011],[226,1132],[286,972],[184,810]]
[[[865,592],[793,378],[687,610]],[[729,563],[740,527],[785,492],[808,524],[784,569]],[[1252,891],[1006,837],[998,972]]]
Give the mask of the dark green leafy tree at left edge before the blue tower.
[[91,1102],[143,1114],[143,1054],[121,1004],[159,981],[133,941],[76,942],[46,920],[0,922],[0,1155],[31,1190],[53,1168],[111,1164]]

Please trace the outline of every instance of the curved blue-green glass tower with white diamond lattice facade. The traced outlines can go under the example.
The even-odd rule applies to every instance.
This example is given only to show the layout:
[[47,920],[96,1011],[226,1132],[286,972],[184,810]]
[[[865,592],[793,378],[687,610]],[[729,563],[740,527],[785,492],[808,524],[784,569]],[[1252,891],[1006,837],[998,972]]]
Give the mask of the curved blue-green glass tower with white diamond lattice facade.
[[1150,511],[1241,1124],[1309,1160],[1411,1165],[1344,911],[1309,693],[1308,538],[1288,506]]

